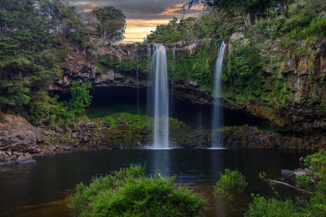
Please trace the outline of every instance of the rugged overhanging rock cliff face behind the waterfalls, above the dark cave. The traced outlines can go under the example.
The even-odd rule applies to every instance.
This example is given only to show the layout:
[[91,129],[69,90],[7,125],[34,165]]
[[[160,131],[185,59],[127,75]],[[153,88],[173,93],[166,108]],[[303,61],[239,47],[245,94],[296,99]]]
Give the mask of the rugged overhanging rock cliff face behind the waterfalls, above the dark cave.
[[[241,38],[242,35],[237,34],[230,39],[224,67],[230,62],[231,52],[238,49],[234,43],[231,46],[231,41],[247,43]],[[173,83],[174,95],[180,100],[212,104],[218,41],[204,39],[167,43],[164,46],[167,48],[169,79]],[[176,55],[173,61],[174,47]],[[259,82],[257,87],[250,87],[251,92],[242,91],[248,88],[246,86],[235,87],[228,81],[224,82],[223,106],[268,120],[277,130],[322,133],[326,128],[326,45],[323,43],[313,60],[299,55],[293,57],[281,47],[275,41],[267,41],[261,47],[260,56],[267,63],[261,67]],[[144,43],[111,47],[100,45],[92,57],[75,50],[66,60],[69,64],[62,66],[64,76],[54,81],[49,89],[53,94],[65,93],[74,81],[91,81],[92,87],[98,90],[113,86],[146,88],[151,85],[147,82],[147,74],[150,73],[152,54],[153,45]]]

